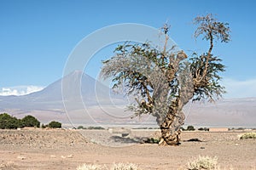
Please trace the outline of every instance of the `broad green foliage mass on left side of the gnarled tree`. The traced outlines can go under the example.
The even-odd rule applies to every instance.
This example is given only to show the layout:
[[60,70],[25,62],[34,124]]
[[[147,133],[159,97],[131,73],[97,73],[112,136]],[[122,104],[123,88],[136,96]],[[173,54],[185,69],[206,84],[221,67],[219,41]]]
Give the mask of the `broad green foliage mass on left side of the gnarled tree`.
[[[108,66],[113,66],[113,70],[105,69],[106,72],[104,72],[103,68],[102,73],[107,77],[113,77],[113,88],[119,88],[120,85],[125,84],[128,88],[127,94],[135,92],[146,97],[147,92],[152,92],[153,87],[148,82],[146,72],[142,70],[149,70],[152,65],[147,64],[151,61],[157,66],[166,66],[166,63],[159,63],[161,52],[148,42],[143,44],[125,43],[115,48],[114,52],[116,55],[113,58],[103,62],[106,69]],[[137,68],[138,65],[141,66],[141,71]]]

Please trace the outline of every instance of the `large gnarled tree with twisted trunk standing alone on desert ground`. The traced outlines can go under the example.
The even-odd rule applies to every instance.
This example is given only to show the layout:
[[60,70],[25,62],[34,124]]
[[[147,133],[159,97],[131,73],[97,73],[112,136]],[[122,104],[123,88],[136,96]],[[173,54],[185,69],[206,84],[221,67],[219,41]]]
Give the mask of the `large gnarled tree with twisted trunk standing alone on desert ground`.
[[168,47],[169,26],[162,27],[165,43],[162,48],[149,42],[125,42],[111,59],[103,61],[101,75],[113,77],[113,88],[126,88],[135,103],[128,106],[135,116],[151,114],[161,130],[161,145],[179,144],[180,127],[184,123],[183,106],[189,100],[214,101],[224,94],[219,72],[224,71],[221,59],[212,54],[213,40],[230,41],[228,24],[212,17],[195,18],[195,37],[210,42],[207,52],[190,58],[176,46]]

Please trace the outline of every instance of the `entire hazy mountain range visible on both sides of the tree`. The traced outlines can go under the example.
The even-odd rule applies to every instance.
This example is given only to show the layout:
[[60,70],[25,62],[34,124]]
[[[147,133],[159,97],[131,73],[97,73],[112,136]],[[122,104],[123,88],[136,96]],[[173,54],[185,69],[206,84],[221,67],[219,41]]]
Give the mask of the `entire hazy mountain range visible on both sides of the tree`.
[[[37,116],[41,122],[64,124],[155,125],[154,117],[131,119],[125,111],[129,100],[84,74],[71,74],[43,90],[24,96],[0,96],[0,112],[22,117]],[[186,124],[195,126],[256,127],[256,98],[222,99],[215,104],[189,103],[184,108]]]

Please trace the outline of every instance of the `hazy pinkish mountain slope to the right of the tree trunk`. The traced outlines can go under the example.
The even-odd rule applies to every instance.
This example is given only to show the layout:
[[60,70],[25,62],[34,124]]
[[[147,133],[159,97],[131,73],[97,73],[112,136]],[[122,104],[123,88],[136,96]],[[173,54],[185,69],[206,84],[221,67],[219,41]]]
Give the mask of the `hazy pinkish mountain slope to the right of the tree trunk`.
[[216,103],[192,103],[184,108],[193,125],[256,127],[256,98],[222,99]]

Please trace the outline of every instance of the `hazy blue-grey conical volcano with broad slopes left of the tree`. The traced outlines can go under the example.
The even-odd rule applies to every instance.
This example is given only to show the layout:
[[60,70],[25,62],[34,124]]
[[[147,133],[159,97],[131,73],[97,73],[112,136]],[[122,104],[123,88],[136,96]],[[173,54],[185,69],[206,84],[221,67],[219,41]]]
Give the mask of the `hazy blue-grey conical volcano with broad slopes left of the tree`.
[[[22,117],[37,116],[41,122],[95,124],[134,122],[124,112],[123,95],[84,74],[73,71],[41,91],[23,96],[0,96],[0,112]],[[127,115],[128,113],[128,115]]]

